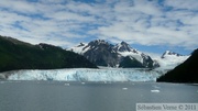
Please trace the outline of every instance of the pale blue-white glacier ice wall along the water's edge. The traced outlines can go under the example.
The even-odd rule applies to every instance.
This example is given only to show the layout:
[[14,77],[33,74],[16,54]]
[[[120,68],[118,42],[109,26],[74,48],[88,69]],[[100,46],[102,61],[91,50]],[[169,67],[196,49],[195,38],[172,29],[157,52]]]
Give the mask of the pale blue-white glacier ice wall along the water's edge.
[[66,68],[26,69],[1,73],[8,80],[59,80],[59,81],[156,81],[166,70],[146,68]]

